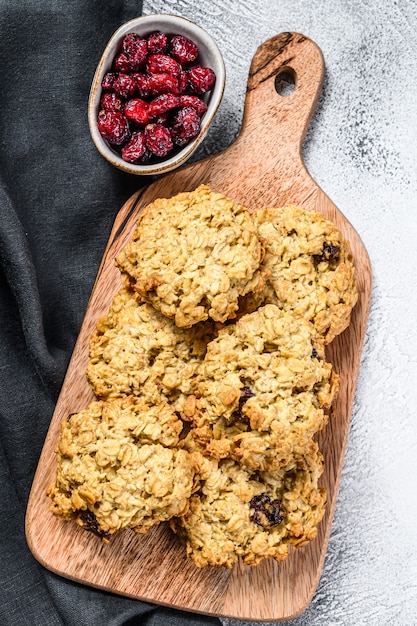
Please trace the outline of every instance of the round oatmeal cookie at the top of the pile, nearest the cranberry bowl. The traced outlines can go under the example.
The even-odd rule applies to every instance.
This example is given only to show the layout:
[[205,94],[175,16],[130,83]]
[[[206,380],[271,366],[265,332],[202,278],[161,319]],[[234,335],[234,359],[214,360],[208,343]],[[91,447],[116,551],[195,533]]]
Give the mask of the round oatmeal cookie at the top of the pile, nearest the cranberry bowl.
[[263,252],[248,209],[201,185],[145,207],[116,263],[125,283],[190,327],[234,317],[239,296],[263,288]]

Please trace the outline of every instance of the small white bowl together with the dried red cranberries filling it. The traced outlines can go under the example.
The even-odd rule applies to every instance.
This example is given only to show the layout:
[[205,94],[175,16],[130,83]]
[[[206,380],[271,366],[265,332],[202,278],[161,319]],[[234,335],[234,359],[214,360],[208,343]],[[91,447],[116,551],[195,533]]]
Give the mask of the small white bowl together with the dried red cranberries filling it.
[[203,28],[168,14],[130,20],[109,40],[93,78],[93,142],[131,174],[169,172],[200,145],[224,85],[222,54]]

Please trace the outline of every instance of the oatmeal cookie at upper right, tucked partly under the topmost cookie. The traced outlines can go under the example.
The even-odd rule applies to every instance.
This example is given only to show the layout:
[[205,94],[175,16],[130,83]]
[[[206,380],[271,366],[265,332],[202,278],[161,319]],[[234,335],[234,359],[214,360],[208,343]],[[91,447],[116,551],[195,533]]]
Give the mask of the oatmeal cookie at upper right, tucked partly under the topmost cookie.
[[243,306],[277,304],[311,321],[330,343],[350,322],[357,298],[349,242],[320,213],[289,205],[253,214],[270,277]]

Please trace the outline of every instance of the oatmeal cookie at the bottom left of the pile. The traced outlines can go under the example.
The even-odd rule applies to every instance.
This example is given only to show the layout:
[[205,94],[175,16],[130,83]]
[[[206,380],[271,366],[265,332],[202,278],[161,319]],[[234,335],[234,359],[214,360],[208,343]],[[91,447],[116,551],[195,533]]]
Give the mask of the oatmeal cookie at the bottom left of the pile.
[[183,428],[166,403],[95,401],[61,424],[51,511],[103,539],[145,533],[188,510],[198,456],[176,446]]

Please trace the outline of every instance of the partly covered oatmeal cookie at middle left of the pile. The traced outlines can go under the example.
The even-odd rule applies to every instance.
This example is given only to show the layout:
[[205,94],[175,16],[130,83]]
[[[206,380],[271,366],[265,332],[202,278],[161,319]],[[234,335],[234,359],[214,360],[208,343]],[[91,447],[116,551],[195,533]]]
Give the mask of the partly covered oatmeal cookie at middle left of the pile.
[[214,337],[210,322],[178,328],[137,294],[122,289],[90,338],[87,379],[95,395],[166,399],[187,410],[199,364]]

